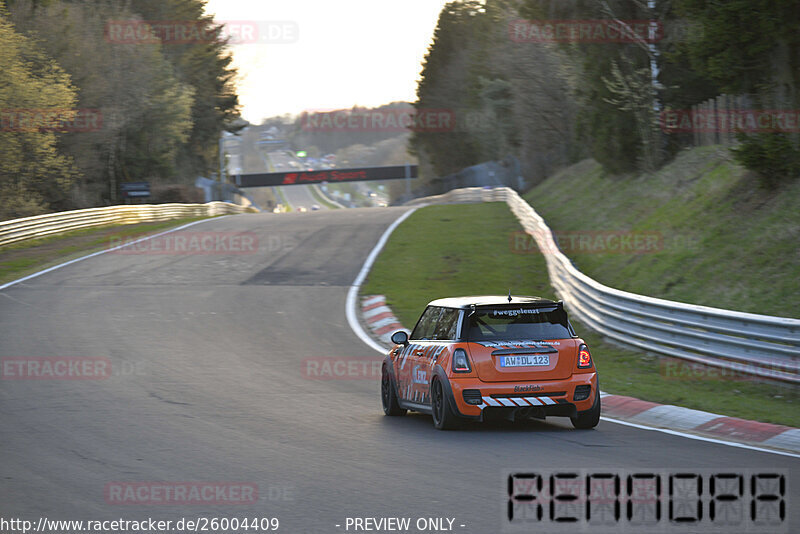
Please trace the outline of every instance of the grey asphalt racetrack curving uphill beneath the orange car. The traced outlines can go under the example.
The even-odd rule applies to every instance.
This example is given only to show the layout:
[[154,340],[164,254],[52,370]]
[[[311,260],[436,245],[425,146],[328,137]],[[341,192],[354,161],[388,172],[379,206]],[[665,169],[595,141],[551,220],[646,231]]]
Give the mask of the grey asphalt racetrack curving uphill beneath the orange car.
[[[345,297],[402,213],[213,219],[178,233],[251,232],[257,248],[106,253],[0,291],[0,357],[99,358],[112,368],[103,380],[0,381],[3,516],[277,517],[291,533],[353,532],[348,517],[452,518],[456,532],[489,534],[505,527],[508,469],[800,467],[791,456],[606,421],[592,431],[552,419],[440,432],[427,416],[385,417],[378,378],[309,376],[331,358],[367,359],[370,369],[380,361],[349,328]],[[107,493],[219,481],[253,484],[258,498],[120,504]],[[798,532],[796,486],[786,502],[787,522],[759,532]],[[602,531],[583,529],[572,532]]]

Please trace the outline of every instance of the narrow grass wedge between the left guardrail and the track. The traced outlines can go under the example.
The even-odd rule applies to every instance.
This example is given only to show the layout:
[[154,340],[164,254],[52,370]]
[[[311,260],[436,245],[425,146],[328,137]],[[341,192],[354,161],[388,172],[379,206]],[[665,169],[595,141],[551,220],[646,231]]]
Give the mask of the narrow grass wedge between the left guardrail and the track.
[[84,228],[6,245],[0,247],[0,283],[10,282],[73,258],[102,250],[109,246],[112,238],[144,237],[159,230],[206,218],[189,217],[155,223]]

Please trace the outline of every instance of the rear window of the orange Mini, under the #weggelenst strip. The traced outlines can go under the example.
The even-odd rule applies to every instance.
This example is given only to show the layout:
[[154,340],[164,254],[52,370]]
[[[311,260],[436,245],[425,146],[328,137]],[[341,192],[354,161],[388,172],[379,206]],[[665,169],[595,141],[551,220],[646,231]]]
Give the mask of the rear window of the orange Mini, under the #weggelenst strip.
[[561,307],[478,308],[467,319],[468,341],[571,337],[567,314]]

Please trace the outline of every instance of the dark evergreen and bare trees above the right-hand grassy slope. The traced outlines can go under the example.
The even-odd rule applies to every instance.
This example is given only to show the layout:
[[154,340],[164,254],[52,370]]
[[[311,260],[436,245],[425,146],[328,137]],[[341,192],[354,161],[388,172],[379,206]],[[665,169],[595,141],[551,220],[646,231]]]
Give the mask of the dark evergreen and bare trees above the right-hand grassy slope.
[[[658,21],[652,41],[513,39],[514,21]],[[458,128],[412,139],[428,175],[508,154],[531,183],[592,157],[612,173],[657,169],[691,145],[664,110],[720,94],[754,109],[800,109],[796,0],[464,0],[440,14],[418,86],[420,109],[452,108]],[[793,132],[741,133],[735,157],[764,182],[800,174]]]

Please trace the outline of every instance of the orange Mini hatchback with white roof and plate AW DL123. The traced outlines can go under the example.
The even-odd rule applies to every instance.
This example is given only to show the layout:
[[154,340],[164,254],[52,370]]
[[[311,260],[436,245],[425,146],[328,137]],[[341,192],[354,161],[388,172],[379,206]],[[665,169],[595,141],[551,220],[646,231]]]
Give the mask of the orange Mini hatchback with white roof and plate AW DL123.
[[484,296],[434,300],[383,362],[386,415],[429,413],[438,429],[466,419],[600,420],[597,370],[562,302]]

